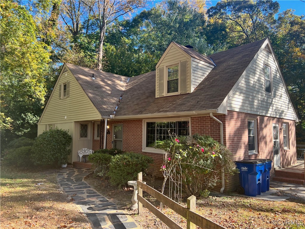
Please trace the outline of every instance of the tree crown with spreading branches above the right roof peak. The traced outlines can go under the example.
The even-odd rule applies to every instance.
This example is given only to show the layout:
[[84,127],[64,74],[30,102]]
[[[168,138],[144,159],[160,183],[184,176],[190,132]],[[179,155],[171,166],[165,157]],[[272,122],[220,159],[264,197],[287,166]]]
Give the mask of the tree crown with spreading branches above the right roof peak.
[[276,23],[279,3],[272,0],[223,0],[207,10],[208,16],[228,22],[231,45],[268,37]]

